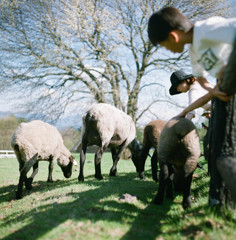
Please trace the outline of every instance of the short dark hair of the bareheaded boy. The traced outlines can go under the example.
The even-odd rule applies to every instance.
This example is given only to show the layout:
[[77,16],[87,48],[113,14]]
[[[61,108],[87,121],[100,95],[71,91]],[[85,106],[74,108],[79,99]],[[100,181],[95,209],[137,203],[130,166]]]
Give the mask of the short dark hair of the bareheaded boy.
[[189,31],[193,23],[178,9],[165,7],[152,14],[148,21],[148,37],[152,44],[165,41],[172,30]]

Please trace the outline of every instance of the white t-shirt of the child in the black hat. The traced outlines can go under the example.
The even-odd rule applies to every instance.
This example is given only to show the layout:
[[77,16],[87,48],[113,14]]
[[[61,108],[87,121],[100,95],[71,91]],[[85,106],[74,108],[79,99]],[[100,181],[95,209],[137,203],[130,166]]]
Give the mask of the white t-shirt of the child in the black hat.
[[[189,105],[193,102],[195,102],[197,99],[200,97],[204,96],[207,94],[207,90],[201,87],[199,82],[195,81],[193,84],[190,85],[189,91],[188,91],[188,100],[189,100]],[[206,103],[205,105],[202,106],[202,108],[206,111],[210,110],[211,108],[211,101]],[[190,113],[195,115],[195,111],[191,111]]]

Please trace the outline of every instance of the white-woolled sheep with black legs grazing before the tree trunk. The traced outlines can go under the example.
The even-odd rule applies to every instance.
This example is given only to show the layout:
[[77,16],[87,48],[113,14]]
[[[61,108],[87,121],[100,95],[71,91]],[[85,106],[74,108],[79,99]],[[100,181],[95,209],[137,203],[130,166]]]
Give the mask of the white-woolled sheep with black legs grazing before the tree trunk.
[[82,117],[80,172],[78,181],[84,181],[84,163],[87,146],[99,146],[95,154],[95,178],[103,179],[101,174],[101,158],[104,150],[109,147],[112,154],[113,166],[110,176],[117,175],[117,163],[122,151],[128,147],[131,150],[132,161],[138,171],[138,157],[141,149],[135,138],[136,129],[132,118],[116,107],[98,103],[93,105]]

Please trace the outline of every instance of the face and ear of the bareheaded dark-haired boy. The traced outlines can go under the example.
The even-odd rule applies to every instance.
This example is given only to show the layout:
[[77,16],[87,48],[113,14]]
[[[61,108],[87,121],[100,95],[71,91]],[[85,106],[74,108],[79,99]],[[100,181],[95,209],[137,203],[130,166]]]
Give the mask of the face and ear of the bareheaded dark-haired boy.
[[176,32],[170,32],[168,38],[160,42],[160,45],[173,53],[181,53],[184,50],[184,44],[180,41],[180,36]]

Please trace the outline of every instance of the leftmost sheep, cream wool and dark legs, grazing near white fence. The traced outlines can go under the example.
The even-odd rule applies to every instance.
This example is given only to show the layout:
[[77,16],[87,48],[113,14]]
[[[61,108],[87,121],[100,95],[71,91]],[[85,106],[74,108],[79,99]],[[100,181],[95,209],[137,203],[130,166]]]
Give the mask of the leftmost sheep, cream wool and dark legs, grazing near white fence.
[[[28,123],[21,123],[14,132],[11,146],[19,162],[20,178],[16,199],[22,198],[23,184],[30,190],[35,175],[38,173],[38,161],[49,161],[48,182],[53,182],[53,164],[57,160],[66,178],[72,174],[74,157],[63,144],[61,134],[56,127],[34,120]],[[31,177],[27,178],[27,173],[33,166]]]

